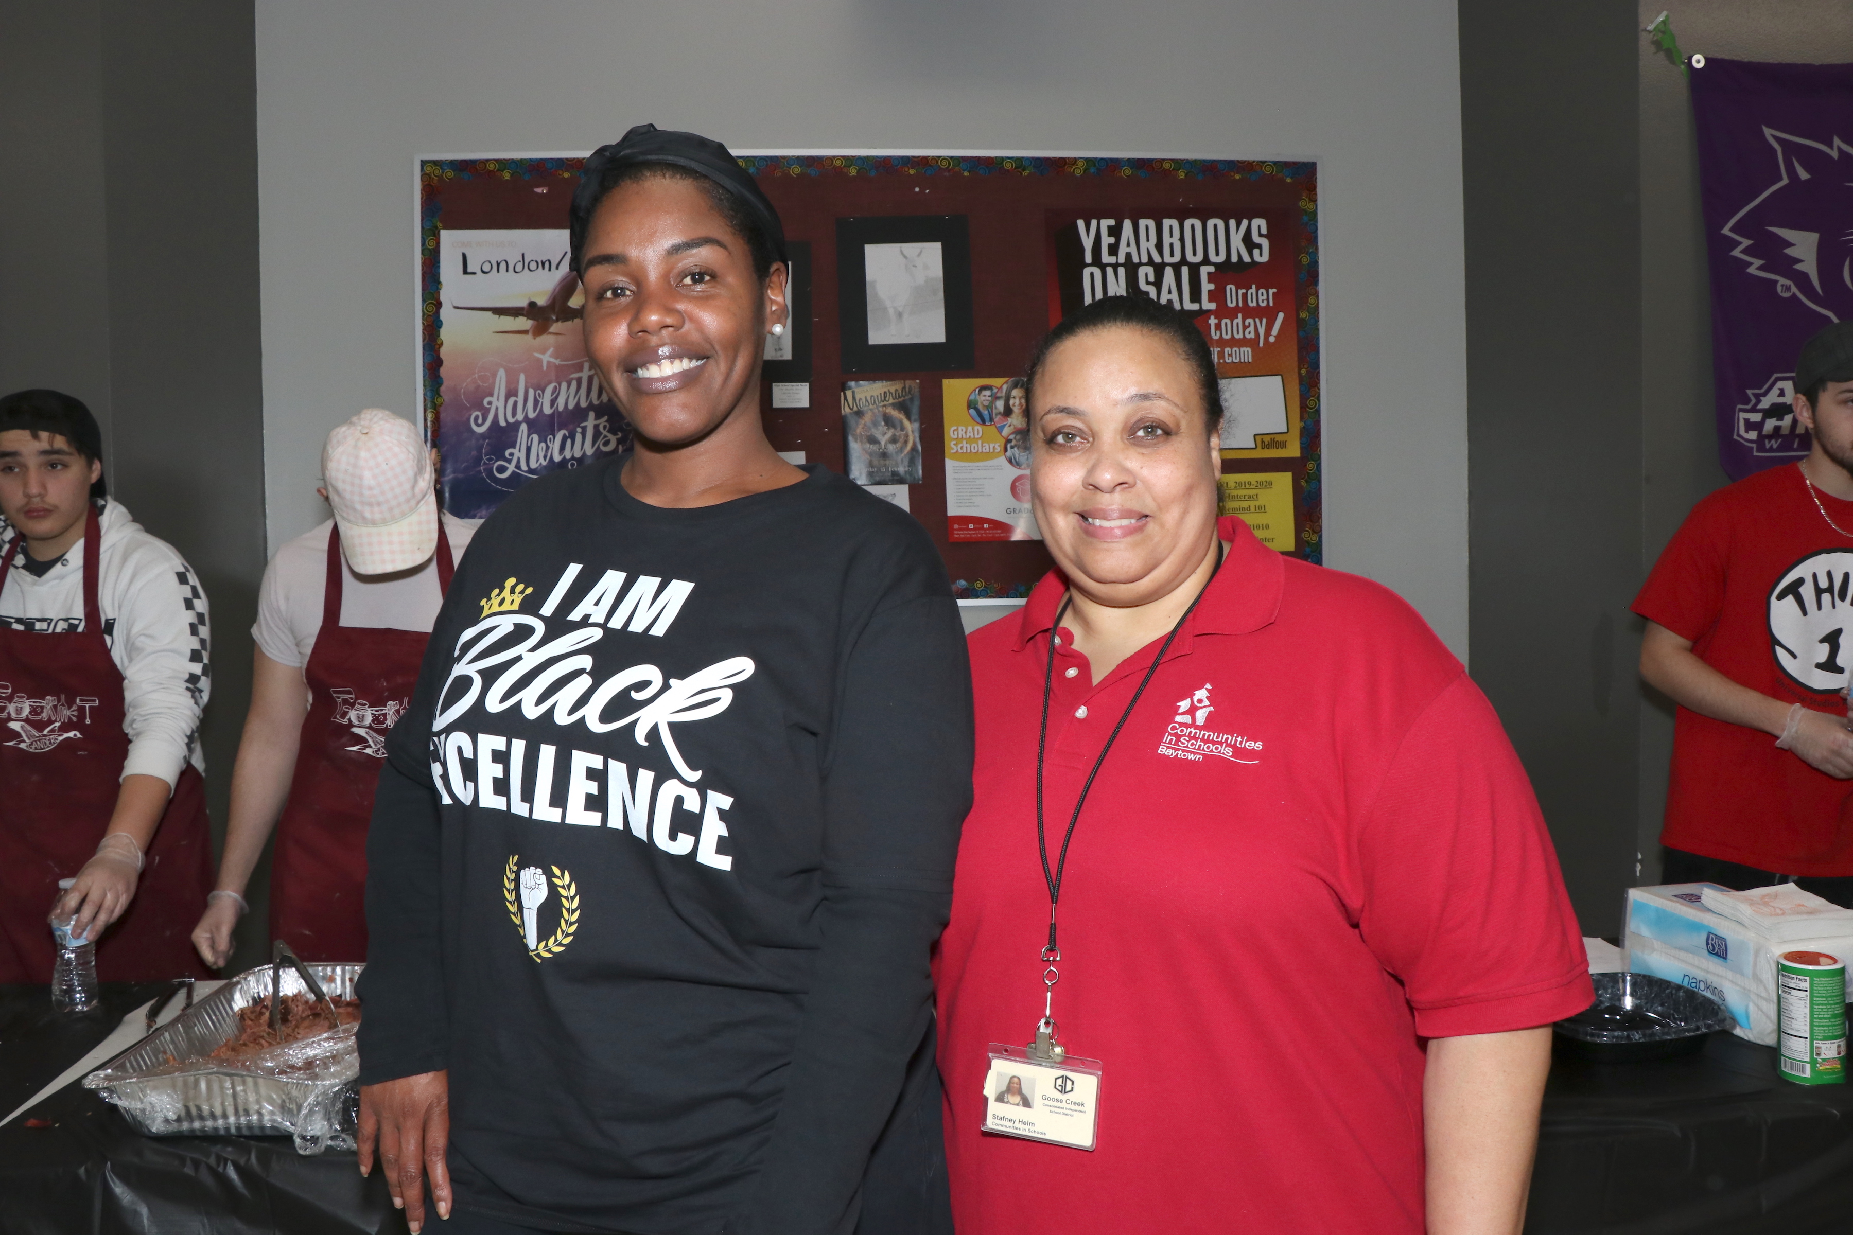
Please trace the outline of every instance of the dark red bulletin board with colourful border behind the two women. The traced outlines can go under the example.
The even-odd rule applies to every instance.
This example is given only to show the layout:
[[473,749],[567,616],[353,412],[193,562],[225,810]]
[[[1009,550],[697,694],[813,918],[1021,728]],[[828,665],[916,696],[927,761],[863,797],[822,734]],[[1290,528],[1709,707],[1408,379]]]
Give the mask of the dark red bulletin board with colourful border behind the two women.
[[[793,250],[793,328],[769,344],[762,389],[767,435],[901,498],[939,546],[956,594],[1023,596],[1049,570],[1043,544],[1021,539],[1021,518],[1001,528],[962,511],[988,493],[1010,500],[986,485],[1010,489],[1010,468],[1027,461],[1006,404],[1036,339],[1065,311],[1119,291],[1193,313],[1210,341],[1227,409],[1223,511],[1280,552],[1319,561],[1314,163],[739,161],[778,207]],[[485,513],[534,474],[628,446],[628,426],[584,363],[574,287],[560,265],[582,163],[419,161],[424,415],[456,513]],[[1023,496],[1023,481],[1014,493]]]

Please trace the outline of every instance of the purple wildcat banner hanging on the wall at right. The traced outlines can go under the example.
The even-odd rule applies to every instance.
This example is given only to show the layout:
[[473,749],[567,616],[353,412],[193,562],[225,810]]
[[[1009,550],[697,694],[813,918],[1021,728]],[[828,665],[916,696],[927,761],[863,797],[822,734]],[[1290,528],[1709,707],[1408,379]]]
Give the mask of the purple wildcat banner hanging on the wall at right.
[[1809,454],[1796,356],[1853,317],[1853,65],[1692,70],[1712,274],[1718,455],[1731,480]]

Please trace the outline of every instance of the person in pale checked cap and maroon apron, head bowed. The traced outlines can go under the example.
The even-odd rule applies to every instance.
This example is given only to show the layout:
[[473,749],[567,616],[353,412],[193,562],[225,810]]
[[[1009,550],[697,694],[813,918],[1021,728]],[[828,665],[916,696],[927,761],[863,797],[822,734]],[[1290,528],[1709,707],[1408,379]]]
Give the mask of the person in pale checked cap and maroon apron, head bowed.
[[335,428],[322,476],[334,520],[278,550],[258,602],[226,850],[193,931],[215,968],[272,826],[271,937],[306,961],[367,959],[367,822],[385,735],[469,543],[471,524],[437,511],[417,430],[391,413]]

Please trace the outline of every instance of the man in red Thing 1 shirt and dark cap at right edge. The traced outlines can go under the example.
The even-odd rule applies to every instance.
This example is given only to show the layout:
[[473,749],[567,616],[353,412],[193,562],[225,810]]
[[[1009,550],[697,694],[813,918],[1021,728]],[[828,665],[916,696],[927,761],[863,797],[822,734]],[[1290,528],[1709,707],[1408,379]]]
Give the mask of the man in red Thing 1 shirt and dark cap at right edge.
[[1699,502],[1634,598],[1679,704],[1662,878],[1853,905],[1853,322],[1801,348],[1794,400],[1809,457]]

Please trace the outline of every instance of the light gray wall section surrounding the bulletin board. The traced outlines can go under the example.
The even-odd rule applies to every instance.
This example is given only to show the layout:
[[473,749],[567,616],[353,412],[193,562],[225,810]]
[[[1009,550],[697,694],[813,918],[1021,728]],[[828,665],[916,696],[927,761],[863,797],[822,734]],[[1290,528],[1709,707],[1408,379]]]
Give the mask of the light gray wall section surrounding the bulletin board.
[[[665,54],[667,52],[667,54]],[[272,548],[321,441],[417,409],[413,156],[736,148],[1319,159],[1327,561],[1466,655],[1460,109],[1447,0],[258,2]]]

